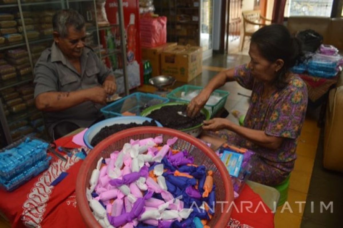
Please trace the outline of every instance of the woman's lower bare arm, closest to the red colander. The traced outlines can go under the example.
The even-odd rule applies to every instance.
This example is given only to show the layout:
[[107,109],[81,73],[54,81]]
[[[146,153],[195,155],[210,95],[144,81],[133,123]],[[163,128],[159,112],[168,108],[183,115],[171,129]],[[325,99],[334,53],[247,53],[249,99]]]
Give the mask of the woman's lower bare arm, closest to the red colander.
[[203,129],[210,131],[227,129],[250,140],[258,146],[273,150],[279,148],[283,142],[282,137],[270,136],[265,134],[264,131],[245,128],[223,118],[214,118],[212,120],[204,121]]

